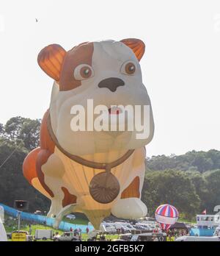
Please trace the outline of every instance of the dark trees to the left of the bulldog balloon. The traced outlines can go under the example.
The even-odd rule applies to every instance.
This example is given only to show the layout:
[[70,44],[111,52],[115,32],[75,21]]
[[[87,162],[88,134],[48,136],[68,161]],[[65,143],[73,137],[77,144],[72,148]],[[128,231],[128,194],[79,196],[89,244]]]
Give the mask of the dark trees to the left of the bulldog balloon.
[[[29,211],[48,210],[49,200],[23,177],[23,160],[39,145],[40,120],[10,118],[0,124],[0,202],[13,207],[15,200],[29,201]],[[8,158],[10,157],[10,158]]]

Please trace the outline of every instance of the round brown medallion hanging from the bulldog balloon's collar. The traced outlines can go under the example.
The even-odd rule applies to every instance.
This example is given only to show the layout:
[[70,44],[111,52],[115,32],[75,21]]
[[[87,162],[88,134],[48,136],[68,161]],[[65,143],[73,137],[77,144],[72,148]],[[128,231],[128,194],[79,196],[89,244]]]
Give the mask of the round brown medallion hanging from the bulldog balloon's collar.
[[120,183],[113,174],[101,172],[92,178],[89,193],[96,202],[109,204],[120,193]]

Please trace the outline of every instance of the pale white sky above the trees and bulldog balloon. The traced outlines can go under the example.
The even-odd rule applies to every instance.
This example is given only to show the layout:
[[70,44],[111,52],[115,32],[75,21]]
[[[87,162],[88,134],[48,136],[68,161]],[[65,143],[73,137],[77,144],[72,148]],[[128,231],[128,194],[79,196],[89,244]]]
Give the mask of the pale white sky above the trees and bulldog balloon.
[[0,122],[43,117],[52,88],[37,65],[44,46],[123,38],[146,44],[147,155],[220,149],[219,0],[0,0]]

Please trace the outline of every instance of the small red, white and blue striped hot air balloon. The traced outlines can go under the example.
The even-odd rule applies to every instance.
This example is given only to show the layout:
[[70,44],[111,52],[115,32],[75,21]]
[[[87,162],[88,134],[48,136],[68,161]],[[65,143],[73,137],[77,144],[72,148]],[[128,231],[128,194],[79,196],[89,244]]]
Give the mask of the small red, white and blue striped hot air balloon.
[[162,230],[169,230],[169,227],[177,222],[178,217],[179,213],[172,205],[160,205],[155,210],[155,218]]

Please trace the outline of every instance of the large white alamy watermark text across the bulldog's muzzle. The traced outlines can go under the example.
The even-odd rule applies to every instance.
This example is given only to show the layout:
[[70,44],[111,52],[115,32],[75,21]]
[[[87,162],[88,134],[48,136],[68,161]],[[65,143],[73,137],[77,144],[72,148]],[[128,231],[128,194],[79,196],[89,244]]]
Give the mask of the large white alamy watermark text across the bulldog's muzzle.
[[87,99],[87,107],[77,104],[71,107],[70,128],[77,131],[125,132],[135,131],[136,139],[150,136],[149,105],[106,105],[94,107],[93,99]]

